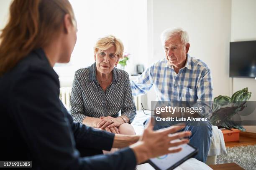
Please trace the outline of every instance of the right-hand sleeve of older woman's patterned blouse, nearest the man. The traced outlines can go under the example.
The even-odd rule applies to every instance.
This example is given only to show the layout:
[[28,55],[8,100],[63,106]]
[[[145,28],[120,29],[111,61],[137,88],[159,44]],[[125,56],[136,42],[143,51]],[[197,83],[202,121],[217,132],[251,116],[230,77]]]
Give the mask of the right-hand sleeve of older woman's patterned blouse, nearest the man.
[[121,114],[127,116],[130,120],[130,123],[133,122],[134,117],[136,116],[136,106],[133,101],[133,95],[131,92],[131,84],[129,80],[129,75],[127,75],[125,83],[125,95],[123,99],[123,106],[121,109]]

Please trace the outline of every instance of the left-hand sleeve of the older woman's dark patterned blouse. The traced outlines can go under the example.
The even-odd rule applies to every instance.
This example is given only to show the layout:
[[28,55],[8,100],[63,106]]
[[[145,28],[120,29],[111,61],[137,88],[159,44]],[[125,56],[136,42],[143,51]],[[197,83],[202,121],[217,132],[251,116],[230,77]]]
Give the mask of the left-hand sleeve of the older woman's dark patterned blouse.
[[77,77],[77,72],[74,75],[74,81],[70,95],[70,107],[70,114],[72,115],[74,121],[82,123],[86,115],[84,112],[84,101],[82,98],[82,90],[79,78]]

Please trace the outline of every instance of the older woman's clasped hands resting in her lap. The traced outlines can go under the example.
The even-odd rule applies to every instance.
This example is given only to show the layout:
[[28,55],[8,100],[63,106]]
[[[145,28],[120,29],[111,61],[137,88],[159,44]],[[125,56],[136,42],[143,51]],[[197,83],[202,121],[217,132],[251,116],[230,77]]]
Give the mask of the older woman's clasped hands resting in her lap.
[[123,119],[120,117],[102,116],[96,127],[100,130],[105,130],[111,133],[119,134],[118,127],[124,123]]

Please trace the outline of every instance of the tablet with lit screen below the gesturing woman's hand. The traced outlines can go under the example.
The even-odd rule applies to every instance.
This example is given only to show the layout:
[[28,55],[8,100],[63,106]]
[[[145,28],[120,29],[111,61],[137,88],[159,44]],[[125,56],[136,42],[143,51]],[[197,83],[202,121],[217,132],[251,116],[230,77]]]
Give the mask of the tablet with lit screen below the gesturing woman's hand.
[[179,147],[182,147],[180,152],[151,158],[148,163],[156,170],[173,170],[198,152],[197,148],[189,144],[180,145]]

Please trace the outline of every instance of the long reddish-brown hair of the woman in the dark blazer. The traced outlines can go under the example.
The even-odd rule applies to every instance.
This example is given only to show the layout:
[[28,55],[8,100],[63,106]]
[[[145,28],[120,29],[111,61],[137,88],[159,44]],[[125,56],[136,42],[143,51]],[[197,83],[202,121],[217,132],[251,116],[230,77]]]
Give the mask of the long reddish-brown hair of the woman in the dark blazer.
[[68,0],[14,0],[9,21],[0,35],[0,75],[31,50],[47,45],[58,34],[66,14],[76,26]]

